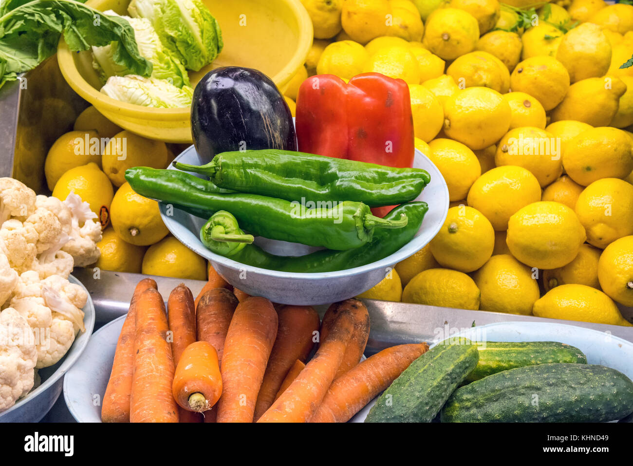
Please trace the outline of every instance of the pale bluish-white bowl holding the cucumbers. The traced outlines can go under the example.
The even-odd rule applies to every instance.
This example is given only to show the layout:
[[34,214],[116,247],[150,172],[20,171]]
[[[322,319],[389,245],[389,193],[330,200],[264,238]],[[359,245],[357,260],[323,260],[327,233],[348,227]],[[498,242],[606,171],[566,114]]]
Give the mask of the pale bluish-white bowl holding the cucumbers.
[[[599,364],[619,370],[633,379],[633,343],[608,332],[575,327],[575,325],[542,322],[497,322],[472,327],[454,336],[472,341],[559,341],[579,348],[587,356],[588,364]],[[444,340],[453,335],[442,337]],[[435,341],[430,348],[436,346]],[[374,398],[350,422],[363,422],[375,405]]]

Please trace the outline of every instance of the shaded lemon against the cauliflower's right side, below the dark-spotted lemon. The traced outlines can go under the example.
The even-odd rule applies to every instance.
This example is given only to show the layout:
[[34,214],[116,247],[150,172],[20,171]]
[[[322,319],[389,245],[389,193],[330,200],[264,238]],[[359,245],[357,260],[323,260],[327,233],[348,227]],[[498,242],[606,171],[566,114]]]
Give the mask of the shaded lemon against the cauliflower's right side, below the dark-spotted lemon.
[[123,241],[112,227],[103,231],[103,237],[97,242],[97,248],[101,251],[101,256],[92,267],[114,272],[141,273],[145,248]]

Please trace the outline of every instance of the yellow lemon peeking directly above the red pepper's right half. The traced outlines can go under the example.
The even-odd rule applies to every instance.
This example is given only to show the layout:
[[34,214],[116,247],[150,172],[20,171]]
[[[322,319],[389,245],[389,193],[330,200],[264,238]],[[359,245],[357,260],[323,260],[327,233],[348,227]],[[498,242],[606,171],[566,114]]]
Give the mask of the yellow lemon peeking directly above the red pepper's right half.
[[420,68],[408,47],[383,47],[365,62],[363,73],[382,73],[407,84],[420,84]]

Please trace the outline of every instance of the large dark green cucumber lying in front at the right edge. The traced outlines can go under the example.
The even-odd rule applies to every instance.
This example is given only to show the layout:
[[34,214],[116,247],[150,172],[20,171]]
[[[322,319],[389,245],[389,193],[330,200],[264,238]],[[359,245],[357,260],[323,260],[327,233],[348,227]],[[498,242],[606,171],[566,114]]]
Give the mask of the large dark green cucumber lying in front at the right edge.
[[457,389],[442,422],[606,422],[633,412],[633,382],[615,369],[550,363],[489,375]]

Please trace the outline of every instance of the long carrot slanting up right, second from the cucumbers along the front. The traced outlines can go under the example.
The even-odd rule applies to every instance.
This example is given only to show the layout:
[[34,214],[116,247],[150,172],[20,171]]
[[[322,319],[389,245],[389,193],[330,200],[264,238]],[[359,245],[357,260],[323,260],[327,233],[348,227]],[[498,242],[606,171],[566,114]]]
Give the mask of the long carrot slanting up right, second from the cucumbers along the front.
[[353,332],[353,314],[339,312],[315,356],[258,422],[308,422],[332,384]]

